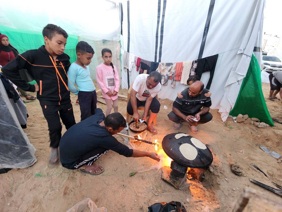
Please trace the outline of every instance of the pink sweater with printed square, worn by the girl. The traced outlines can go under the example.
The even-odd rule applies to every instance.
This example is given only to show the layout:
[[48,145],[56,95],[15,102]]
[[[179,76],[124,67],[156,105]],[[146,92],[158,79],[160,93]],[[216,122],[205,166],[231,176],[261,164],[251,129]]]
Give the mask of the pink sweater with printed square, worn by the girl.
[[118,77],[118,71],[116,70],[116,66],[114,66],[114,71],[112,66],[106,66],[104,63],[101,63],[96,67],[96,79],[99,87],[102,90],[103,98],[115,100],[118,98],[118,94],[116,96],[109,97],[107,92],[114,91],[118,92],[120,88],[120,80]]

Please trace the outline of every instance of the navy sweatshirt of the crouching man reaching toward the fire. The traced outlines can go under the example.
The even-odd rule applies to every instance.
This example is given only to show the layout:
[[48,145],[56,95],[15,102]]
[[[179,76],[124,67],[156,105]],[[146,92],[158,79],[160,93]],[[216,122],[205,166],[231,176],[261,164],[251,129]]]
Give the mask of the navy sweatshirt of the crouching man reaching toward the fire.
[[64,166],[75,164],[82,155],[94,148],[103,147],[125,157],[131,157],[133,150],[118,142],[100,123],[105,115],[100,108],[89,118],[70,127],[60,140],[60,160]]

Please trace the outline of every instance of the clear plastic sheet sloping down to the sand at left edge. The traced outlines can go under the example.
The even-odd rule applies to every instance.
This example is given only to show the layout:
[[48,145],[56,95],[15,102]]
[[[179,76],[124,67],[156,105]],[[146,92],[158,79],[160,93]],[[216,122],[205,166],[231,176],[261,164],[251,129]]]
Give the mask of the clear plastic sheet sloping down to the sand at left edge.
[[36,149],[25,135],[0,81],[0,168],[26,168],[36,162]]

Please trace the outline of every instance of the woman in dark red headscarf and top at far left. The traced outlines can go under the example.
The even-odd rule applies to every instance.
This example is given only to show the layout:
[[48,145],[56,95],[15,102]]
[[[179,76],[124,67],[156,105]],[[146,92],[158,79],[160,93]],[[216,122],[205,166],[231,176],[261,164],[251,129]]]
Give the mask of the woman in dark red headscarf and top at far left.
[[[11,60],[15,59],[18,55],[16,49],[12,48],[9,43],[9,38],[5,34],[0,34],[0,65],[3,67]],[[27,92],[22,90],[21,88],[17,88],[21,95],[24,96],[28,100],[35,100],[36,98],[32,95],[28,95]]]

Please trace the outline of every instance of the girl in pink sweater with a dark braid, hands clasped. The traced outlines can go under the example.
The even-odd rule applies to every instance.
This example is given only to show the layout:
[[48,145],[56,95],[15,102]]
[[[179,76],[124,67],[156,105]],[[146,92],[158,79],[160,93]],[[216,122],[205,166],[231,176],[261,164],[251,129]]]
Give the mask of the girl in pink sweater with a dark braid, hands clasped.
[[103,98],[106,101],[106,116],[111,113],[112,101],[114,112],[118,112],[118,90],[120,88],[120,80],[116,66],[112,63],[112,51],[110,49],[102,49],[102,58],[104,60],[96,67],[96,79],[102,90]]

